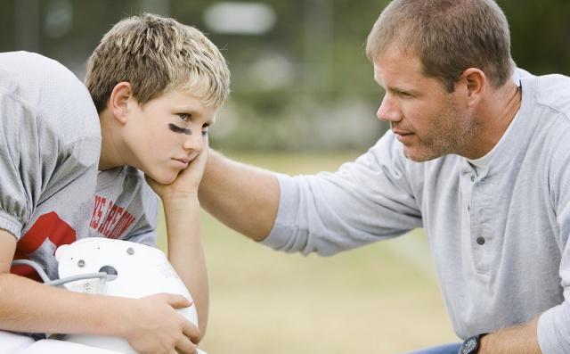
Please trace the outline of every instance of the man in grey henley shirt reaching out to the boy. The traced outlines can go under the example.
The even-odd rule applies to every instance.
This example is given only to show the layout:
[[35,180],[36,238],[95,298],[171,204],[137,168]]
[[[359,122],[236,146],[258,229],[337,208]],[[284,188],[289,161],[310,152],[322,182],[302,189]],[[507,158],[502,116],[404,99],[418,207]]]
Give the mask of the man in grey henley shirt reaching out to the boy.
[[200,202],[250,238],[304,254],[424,227],[465,342],[417,353],[570,352],[570,78],[516,69],[509,47],[493,0],[391,2],[367,41],[391,131],[316,176],[212,153]]

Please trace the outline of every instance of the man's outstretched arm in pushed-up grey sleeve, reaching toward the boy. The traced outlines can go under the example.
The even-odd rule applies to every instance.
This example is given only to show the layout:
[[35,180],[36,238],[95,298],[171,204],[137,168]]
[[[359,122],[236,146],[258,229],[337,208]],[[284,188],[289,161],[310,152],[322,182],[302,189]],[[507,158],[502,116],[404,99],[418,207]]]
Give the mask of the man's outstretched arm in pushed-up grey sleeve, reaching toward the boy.
[[210,151],[199,202],[225,225],[277,251],[330,256],[403,235],[422,218],[398,144],[385,135],[336,172],[297,177]]

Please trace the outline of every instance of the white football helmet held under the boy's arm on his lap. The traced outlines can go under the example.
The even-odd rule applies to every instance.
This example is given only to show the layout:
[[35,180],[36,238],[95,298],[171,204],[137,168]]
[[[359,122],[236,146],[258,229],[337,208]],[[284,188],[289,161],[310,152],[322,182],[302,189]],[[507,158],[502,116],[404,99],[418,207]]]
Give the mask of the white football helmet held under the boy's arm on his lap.
[[[88,292],[142,298],[158,292],[180,294],[191,300],[191,294],[172,268],[166,255],[154,247],[108,238],[88,237],[61,245],[55,251],[59,261],[60,279],[85,277],[85,274],[106,273],[107,276],[70,280],[62,285],[72,292]],[[178,309],[198,325],[196,309]],[[65,341],[116,350],[126,354],[136,351],[118,337],[69,334]],[[199,350],[199,353],[203,353]]]

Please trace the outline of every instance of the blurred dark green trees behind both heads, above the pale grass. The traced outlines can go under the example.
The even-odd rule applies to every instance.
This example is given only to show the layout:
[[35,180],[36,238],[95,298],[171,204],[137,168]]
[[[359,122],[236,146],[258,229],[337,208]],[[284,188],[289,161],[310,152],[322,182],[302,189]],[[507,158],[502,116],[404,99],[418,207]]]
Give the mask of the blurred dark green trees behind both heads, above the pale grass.
[[[570,73],[570,1],[499,0],[515,61]],[[3,0],[0,51],[29,50],[85,74],[112,24],[156,12],[202,29],[232,70],[211,143],[232,150],[346,151],[375,142],[383,92],[364,42],[387,0]]]

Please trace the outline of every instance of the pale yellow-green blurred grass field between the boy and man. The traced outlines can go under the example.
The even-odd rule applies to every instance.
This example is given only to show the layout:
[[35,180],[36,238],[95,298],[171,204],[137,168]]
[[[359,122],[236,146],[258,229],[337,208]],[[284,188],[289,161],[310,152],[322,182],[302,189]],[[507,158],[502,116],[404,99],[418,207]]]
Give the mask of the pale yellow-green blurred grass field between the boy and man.
[[[356,156],[228,155],[289,174],[334,170]],[[272,251],[207,214],[202,222],[209,354],[387,354],[458,341],[421,230],[321,258]]]

